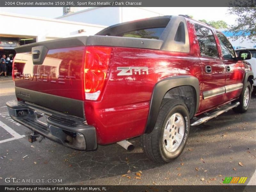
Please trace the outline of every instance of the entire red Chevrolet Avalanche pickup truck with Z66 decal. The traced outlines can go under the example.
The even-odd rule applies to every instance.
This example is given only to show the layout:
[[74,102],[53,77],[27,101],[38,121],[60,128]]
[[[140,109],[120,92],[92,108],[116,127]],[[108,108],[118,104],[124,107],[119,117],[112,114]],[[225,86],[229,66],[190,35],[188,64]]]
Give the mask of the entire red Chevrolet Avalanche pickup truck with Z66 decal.
[[78,150],[111,143],[131,149],[127,139],[140,136],[150,159],[170,162],[182,153],[190,126],[231,108],[246,112],[250,103],[253,73],[243,61],[250,52],[236,56],[220,31],[184,15],[15,50],[17,101],[6,105],[33,131],[31,142],[46,137]]

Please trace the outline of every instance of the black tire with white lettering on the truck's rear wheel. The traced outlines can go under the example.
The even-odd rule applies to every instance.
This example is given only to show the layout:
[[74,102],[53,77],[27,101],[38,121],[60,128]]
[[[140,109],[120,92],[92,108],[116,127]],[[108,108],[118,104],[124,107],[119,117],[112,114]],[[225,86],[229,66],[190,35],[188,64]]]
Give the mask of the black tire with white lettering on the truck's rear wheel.
[[[167,127],[169,124],[171,125],[171,120],[170,120],[171,116],[173,115],[175,116],[175,119],[177,118],[176,115],[174,114],[177,114],[181,120],[183,119],[183,122],[181,123],[184,123],[184,124],[183,126],[180,126],[177,128],[176,127],[172,127],[170,129],[168,128],[170,130],[170,134],[176,135],[180,132],[180,130],[183,130],[184,132],[183,132],[182,139],[179,142],[180,143],[179,147],[175,151],[168,151],[166,149],[167,141],[164,140],[164,131],[167,130]],[[175,123],[175,120],[174,120],[174,123]],[[188,134],[189,134],[189,126],[190,126],[189,112],[186,105],[180,100],[164,99],[162,101],[162,105],[161,105],[161,108],[157,117],[156,125],[153,131],[151,133],[144,134],[141,136],[141,144],[142,144],[144,153],[148,156],[148,158],[150,158],[156,163],[168,163],[173,161],[178,156],[180,156],[180,154],[185,148],[185,145],[188,139]],[[175,133],[173,134],[173,132]],[[175,138],[177,137],[175,136]],[[168,143],[175,144],[175,141],[173,140],[173,136],[171,137],[170,135],[170,139],[168,140]]]

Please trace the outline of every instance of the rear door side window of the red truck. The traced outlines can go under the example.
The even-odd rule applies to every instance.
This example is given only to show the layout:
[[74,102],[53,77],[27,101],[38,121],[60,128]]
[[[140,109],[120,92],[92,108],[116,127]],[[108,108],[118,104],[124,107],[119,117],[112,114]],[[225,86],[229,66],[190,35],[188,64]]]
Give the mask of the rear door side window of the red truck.
[[195,29],[201,55],[218,58],[218,50],[212,31],[200,25],[195,25]]

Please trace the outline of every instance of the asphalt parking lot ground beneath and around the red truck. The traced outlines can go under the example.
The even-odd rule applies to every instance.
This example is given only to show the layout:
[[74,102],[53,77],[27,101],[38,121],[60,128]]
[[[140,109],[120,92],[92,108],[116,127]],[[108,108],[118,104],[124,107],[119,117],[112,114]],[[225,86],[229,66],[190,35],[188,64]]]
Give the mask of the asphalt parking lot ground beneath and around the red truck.
[[[11,78],[3,79],[0,78],[0,185],[222,185],[225,177],[248,177],[245,185],[256,185],[255,93],[247,113],[230,110],[206,124],[191,127],[183,154],[172,163],[155,164],[143,154],[139,138],[130,140],[135,145],[132,152],[117,144],[83,152],[48,139],[29,143],[28,128],[12,121],[7,113],[5,102],[15,100],[14,85]],[[61,182],[6,183],[7,177]]]

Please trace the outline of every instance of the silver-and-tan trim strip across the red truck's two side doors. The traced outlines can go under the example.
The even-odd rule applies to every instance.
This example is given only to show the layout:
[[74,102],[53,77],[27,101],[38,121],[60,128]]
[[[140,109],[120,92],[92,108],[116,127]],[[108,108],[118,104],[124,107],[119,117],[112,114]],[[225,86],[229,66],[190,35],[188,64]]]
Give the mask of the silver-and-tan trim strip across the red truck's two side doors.
[[203,99],[208,99],[208,98],[211,98],[211,97],[222,95],[224,93],[229,93],[229,92],[232,92],[232,91],[236,91],[236,90],[239,90],[239,89],[242,89],[242,88],[243,88],[243,83],[237,83],[237,84],[232,84],[232,85],[227,85],[227,86],[224,86],[224,87],[220,87],[220,88],[217,88],[217,89],[212,89],[212,90],[203,92]]

